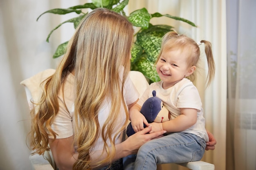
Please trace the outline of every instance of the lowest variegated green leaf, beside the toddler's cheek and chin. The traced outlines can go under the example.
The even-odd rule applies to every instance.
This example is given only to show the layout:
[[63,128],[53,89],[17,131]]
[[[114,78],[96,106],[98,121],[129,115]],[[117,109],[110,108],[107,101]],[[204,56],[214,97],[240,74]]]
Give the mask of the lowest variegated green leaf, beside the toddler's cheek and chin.
[[145,77],[150,79],[152,82],[160,81],[159,75],[157,74],[155,64],[148,60],[146,53],[143,53],[137,62],[137,71],[144,74]]

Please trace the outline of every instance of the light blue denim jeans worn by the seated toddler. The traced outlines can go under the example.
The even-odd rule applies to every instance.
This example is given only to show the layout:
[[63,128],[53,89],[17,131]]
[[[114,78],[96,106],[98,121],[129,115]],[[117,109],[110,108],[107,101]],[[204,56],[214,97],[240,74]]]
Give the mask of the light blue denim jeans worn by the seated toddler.
[[148,141],[135,155],[124,158],[124,170],[156,170],[157,164],[199,161],[204,155],[204,139],[189,133],[171,133]]

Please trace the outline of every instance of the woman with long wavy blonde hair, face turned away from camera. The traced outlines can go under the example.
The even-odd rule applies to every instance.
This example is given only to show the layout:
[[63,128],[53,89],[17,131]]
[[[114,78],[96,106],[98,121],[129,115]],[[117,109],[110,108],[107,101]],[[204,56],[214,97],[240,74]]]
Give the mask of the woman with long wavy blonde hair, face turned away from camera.
[[133,27],[108,9],[88,13],[77,27],[56,72],[43,83],[33,110],[35,153],[51,150],[59,170],[121,169],[121,158],[164,130],[151,127],[123,139],[128,109],[137,102],[130,49]]

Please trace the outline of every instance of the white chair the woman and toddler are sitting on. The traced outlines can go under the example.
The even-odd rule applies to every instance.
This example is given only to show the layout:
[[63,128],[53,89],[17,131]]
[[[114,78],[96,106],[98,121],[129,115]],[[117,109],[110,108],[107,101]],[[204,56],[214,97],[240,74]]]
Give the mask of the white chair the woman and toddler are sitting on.
[[[34,107],[31,101],[36,102],[36,100],[38,99],[38,97],[40,97],[40,94],[42,93],[40,83],[43,82],[43,80],[45,80],[47,77],[52,75],[54,72],[54,69],[47,69],[20,82],[20,84],[25,86],[27,102],[29,104],[30,110]],[[141,96],[145,89],[149,86],[146,78],[142,73],[138,71],[130,71],[130,78],[132,79],[132,82],[135,84],[135,87],[137,88]],[[45,155],[30,155],[29,159],[31,161],[33,170],[57,170],[51,151],[45,152]],[[215,168],[213,164],[204,161],[179,163],[178,165],[184,166],[191,170],[214,170]]]

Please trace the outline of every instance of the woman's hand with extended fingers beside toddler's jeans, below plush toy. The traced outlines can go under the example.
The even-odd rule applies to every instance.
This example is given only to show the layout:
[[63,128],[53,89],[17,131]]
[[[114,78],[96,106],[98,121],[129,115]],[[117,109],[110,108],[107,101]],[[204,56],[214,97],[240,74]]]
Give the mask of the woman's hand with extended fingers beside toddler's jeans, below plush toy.
[[131,135],[124,141],[126,142],[126,147],[128,147],[128,149],[132,152],[131,154],[136,154],[139,147],[141,147],[147,141],[162,137],[163,134],[166,133],[165,130],[160,130],[160,131],[148,134],[148,132],[150,132],[151,129],[152,129],[152,126],[150,125],[144,128],[143,130]]

